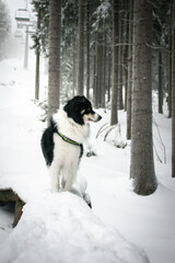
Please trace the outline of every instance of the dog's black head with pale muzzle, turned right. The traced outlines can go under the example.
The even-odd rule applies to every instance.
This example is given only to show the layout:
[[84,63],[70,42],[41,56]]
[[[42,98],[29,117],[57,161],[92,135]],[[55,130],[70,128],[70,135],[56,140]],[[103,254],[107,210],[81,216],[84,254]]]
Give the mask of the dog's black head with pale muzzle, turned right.
[[63,107],[68,117],[71,117],[78,124],[88,122],[98,122],[102,117],[92,108],[91,102],[85,96],[74,96]]

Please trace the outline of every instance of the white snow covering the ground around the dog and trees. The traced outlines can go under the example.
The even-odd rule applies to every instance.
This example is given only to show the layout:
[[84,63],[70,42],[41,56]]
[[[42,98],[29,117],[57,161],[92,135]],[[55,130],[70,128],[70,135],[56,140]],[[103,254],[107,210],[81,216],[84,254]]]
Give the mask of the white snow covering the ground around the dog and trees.
[[114,140],[126,142],[126,113],[119,112],[120,135],[117,127],[104,141],[105,132],[95,137],[109,122],[109,111],[98,111],[103,119],[91,125],[90,138],[96,156],[84,156],[79,169],[79,178],[88,180],[91,210],[73,194],[50,193],[39,145],[45,124],[31,101],[35,67],[24,71],[22,66],[16,59],[0,62],[0,187],[12,186],[27,203],[15,229],[11,213],[0,207],[0,261],[139,263],[149,258],[174,263],[171,119],[154,113],[154,148],[162,163],[155,155],[159,187],[143,197],[132,192],[129,180],[130,141],[124,149],[114,146]]

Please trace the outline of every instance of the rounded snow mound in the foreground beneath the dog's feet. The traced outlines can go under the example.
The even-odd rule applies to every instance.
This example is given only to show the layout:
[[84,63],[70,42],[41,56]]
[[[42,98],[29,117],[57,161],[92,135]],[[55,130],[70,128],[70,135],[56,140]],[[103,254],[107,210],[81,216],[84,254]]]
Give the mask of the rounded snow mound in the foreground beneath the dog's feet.
[[23,208],[4,240],[1,262],[148,263],[144,252],[106,227],[78,196],[44,194]]

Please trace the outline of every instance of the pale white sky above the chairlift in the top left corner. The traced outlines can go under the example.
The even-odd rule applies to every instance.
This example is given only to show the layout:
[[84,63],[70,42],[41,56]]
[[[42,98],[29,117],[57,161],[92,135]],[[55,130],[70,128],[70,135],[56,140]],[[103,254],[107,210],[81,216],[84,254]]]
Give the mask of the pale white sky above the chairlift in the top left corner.
[[12,32],[14,32],[16,30],[16,21],[14,19],[15,11],[18,9],[25,9],[26,3],[27,3],[28,10],[31,11],[31,5],[30,5],[31,1],[30,0],[3,0],[3,1],[7,2],[8,8],[10,10]]

